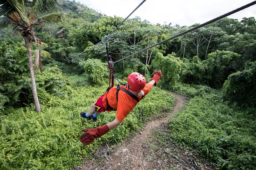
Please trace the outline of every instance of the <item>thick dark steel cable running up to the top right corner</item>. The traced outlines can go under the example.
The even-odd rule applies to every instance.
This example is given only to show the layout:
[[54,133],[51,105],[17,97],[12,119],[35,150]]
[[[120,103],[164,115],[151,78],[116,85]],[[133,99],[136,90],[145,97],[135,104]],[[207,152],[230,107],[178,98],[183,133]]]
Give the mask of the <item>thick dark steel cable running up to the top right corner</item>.
[[[158,43],[156,43],[156,44],[154,44],[154,45],[152,45],[152,46],[150,46],[150,47],[147,47],[147,48],[144,48],[143,50],[137,51],[136,53],[134,53],[134,54],[132,54],[132,55],[129,55],[129,56],[126,56],[126,57],[124,57],[124,58],[122,58],[122,59],[119,59],[119,60],[115,61],[114,63],[117,63],[117,62],[119,62],[119,61],[122,61],[122,60],[124,60],[124,59],[126,59],[126,58],[128,58],[128,57],[130,57],[130,56],[134,56],[134,55],[136,55],[136,54],[139,54],[139,53],[141,53],[141,52],[143,52],[143,51],[145,51],[145,50],[148,50],[148,49],[150,49],[150,48],[152,48],[152,47],[155,47],[155,46],[160,45],[160,44],[162,44],[162,43],[165,43],[165,42],[167,42],[167,41],[169,41],[169,40],[172,40],[172,39],[174,39],[174,38],[177,38],[177,37],[179,37],[179,36],[181,36],[181,35],[184,35],[184,34],[186,34],[186,33],[188,33],[188,32],[191,32],[191,31],[193,31],[193,30],[196,30],[196,29],[198,29],[198,28],[201,28],[201,27],[203,27],[203,26],[206,26],[206,25],[208,25],[208,24],[210,24],[210,23],[212,23],[212,22],[218,21],[219,19],[225,18],[226,16],[229,16],[229,15],[231,15],[231,14],[233,14],[233,13],[236,13],[236,12],[238,12],[238,11],[244,10],[245,8],[248,8],[249,6],[252,6],[252,5],[255,5],[255,4],[256,4],[256,1],[253,1],[253,2],[251,2],[251,3],[248,3],[247,5],[241,6],[240,8],[237,8],[236,10],[230,11],[230,12],[228,12],[228,13],[226,13],[226,14],[223,14],[222,16],[219,16],[219,17],[217,17],[217,18],[215,18],[215,19],[212,19],[212,20],[210,20],[210,21],[208,21],[208,22],[205,22],[205,23],[200,24],[200,25],[198,25],[198,26],[196,26],[196,27],[193,27],[193,28],[191,28],[191,29],[188,29],[188,30],[186,30],[186,31],[184,31],[184,32],[181,32],[181,33],[179,33],[179,34],[176,34],[176,35],[174,35],[173,37],[167,38],[166,40],[163,40],[163,41],[161,41],[161,42],[158,42]],[[113,64],[114,64],[114,63],[113,63]]]

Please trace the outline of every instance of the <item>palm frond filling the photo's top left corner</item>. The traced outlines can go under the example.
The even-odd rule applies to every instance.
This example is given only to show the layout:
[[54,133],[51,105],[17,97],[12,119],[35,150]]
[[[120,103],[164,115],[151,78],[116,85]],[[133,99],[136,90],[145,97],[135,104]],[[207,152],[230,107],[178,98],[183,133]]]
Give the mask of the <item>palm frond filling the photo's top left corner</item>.
[[17,13],[25,26],[29,25],[23,0],[0,0],[0,15],[9,16]]

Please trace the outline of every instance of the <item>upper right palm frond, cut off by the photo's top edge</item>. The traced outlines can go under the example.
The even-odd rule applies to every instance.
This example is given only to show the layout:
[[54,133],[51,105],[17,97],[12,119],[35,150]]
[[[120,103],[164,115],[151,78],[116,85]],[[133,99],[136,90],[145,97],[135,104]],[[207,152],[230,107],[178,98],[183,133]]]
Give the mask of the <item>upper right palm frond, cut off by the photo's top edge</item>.
[[57,0],[33,0],[33,3],[34,13],[51,13],[60,8]]

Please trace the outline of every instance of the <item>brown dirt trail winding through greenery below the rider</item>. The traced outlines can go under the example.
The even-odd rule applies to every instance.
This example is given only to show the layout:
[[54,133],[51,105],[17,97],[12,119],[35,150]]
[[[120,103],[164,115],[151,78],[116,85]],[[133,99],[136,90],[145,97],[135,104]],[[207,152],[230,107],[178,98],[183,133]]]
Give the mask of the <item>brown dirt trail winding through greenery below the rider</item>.
[[[184,151],[173,144],[166,148],[153,149],[158,146],[154,141],[157,137],[155,129],[167,128],[167,122],[188,102],[188,98],[177,93],[172,94],[176,98],[173,111],[165,116],[159,116],[147,122],[147,125],[134,136],[123,143],[114,146],[106,146],[96,152],[95,160],[85,160],[77,170],[199,170],[211,169],[196,159],[192,152]],[[163,152],[157,152],[161,150]],[[165,154],[169,152],[169,154]],[[171,152],[171,156],[170,156]],[[196,159],[196,160],[195,160]],[[196,162],[201,162],[201,167]],[[203,165],[203,166],[202,166]]]

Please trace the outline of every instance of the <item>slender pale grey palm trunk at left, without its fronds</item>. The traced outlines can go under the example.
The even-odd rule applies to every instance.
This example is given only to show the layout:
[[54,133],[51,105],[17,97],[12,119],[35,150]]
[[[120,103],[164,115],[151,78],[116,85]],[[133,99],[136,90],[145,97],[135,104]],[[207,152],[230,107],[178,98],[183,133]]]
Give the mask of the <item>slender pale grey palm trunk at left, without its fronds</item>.
[[32,52],[31,52],[31,40],[29,38],[25,38],[25,45],[28,50],[28,59],[29,59],[29,71],[31,77],[31,85],[32,85],[32,92],[34,97],[34,104],[36,108],[36,112],[41,112],[41,106],[38,100],[38,93],[36,91],[36,80],[34,75],[34,66],[33,66],[33,59],[32,59]]

